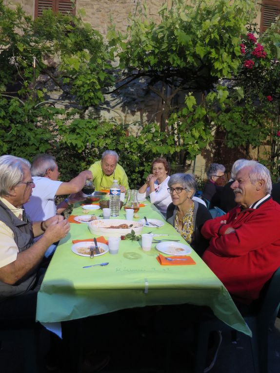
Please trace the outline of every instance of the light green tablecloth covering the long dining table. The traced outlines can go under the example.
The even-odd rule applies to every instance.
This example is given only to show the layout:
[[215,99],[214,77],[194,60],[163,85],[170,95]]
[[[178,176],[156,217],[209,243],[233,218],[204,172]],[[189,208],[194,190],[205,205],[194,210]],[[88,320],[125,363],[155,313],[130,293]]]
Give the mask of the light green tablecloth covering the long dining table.
[[[146,203],[139,216],[164,221],[155,206]],[[98,216],[101,212],[93,213]],[[73,215],[82,215],[82,208],[75,208]],[[125,219],[123,209],[119,218]],[[142,233],[150,231],[185,242],[166,222],[161,228],[144,227]],[[144,252],[140,241],[121,240],[118,255],[106,253],[90,259],[71,251],[72,240],[84,238],[93,238],[87,224],[72,223],[70,233],[60,241],[38,293],[38,321],[57,322],[126,308],[190,303],[211,307],[226,324],[251,335],[225,287],[194,251],[190,255],[195,265],[161,266],[155,244],[151,251]],[[105,261],[109,265],[82,268]]]

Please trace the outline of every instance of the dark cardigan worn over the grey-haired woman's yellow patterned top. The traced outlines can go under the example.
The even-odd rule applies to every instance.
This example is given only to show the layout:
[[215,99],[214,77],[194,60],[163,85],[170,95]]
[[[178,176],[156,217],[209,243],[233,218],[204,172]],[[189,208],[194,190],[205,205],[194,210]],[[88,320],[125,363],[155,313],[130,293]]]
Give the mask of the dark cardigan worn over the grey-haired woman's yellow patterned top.
[[[209,241],[205,239],[201,233],[201,227],[205,223],[206,220],[212,219],[211,214],[207,210],[207,208],[197,201],[193,201],[194,206],[194,233],[192,237],[191,247],[197,252],[198,255],[202,256],[204,251],[209,246]],[[166,221],[175,226],[175,216],[177,214],[177,206],[175,206],[173,203],[170,203],[170,205],[167,207],[166,211]]]

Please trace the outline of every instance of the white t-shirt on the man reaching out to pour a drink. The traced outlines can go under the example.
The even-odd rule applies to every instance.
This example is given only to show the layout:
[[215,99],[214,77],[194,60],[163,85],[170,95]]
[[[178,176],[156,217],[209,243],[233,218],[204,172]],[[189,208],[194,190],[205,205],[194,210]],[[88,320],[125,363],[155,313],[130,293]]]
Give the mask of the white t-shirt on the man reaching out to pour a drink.
[[57,214],[55,196],[62,181],[40,176],[33,177],[33,180],[35,188],[24,208],[31,221],[46,220]]

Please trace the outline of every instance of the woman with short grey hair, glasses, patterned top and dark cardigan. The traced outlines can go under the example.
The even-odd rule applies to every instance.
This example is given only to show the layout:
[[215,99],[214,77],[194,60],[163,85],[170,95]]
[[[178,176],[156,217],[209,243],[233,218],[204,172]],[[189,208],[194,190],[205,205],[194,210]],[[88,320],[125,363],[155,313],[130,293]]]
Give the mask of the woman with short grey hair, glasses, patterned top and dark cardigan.
[[192,174],[174,174],[168,180],[168,187],[172,203],[167,208],[166,221],[201,256],[208,241],[201,236],[200,229],[206,220],[211,219],[211,214],[202,203],[192,199],[196,179]]

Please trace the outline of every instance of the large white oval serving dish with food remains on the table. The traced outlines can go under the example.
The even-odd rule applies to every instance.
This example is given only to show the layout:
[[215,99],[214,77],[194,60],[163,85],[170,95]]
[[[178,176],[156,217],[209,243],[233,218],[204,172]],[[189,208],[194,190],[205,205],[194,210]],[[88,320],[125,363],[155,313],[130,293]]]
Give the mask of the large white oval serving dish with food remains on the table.
[[[108,228],[111,225],[133,224],[133,227],[127,229]],[[144,224],[139,221],[124,219],[101,219],[88,222],[88,228],[93,235],[100,236],[124,236],[134,230],[136,235],[140,235]]]

